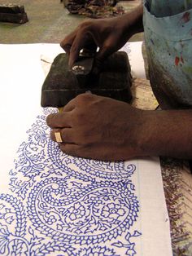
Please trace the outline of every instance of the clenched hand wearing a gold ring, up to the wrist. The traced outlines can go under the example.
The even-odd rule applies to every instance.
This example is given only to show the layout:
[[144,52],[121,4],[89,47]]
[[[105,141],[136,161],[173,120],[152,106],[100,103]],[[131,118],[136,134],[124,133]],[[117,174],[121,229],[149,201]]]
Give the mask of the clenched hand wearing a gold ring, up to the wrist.
[[72,99],[63,113],[50,114],[47,125],[60,132],[60,149],[72,156],[119,161],[140,155],[142,110],[92,94]]

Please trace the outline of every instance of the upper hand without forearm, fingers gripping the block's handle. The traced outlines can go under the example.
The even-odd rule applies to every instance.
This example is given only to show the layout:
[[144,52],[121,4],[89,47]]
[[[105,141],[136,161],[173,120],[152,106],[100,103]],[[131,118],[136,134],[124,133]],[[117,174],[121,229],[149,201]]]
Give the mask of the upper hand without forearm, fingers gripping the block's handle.
[[[115,20],[116,18],[87,20],[63,39],[60,45],[69,55],[68,64],[70,68],[72,68],[72,64],[77,59],[81,49],[87,48],[96,51],[98,46],[100,50],[95,60],[99,64],[108,55],[117,51],[120,46],[124,46],[126,41],[122,40],[122,28],[116,28],[118,23]],[[120,46],[117,42],[120,42]]]

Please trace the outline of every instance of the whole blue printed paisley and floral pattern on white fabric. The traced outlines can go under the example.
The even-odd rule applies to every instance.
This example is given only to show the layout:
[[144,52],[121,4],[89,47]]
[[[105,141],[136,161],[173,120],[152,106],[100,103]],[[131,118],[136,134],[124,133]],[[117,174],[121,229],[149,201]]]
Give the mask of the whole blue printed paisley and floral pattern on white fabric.
[[0,195],[2,255],[135,255],[139,202],[124,161],[70,157],[50,140],[46,108],[20,144]]

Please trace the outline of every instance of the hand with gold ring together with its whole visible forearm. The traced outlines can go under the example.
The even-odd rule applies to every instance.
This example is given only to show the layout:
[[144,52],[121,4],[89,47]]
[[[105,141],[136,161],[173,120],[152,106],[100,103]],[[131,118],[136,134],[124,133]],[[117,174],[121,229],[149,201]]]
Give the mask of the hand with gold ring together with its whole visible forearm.
[[192,110],[145,111],[82,94],[51,114],[50,136],[60,132],[63,152],[105,161],[167,156],[192,159]]

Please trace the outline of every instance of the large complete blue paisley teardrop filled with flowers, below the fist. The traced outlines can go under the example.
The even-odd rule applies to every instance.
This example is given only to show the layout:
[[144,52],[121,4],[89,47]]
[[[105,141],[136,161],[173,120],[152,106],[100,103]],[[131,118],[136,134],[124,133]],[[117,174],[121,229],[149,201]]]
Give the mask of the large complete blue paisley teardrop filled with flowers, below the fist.
[[129,191],[129,183],[74,182],[66,176],[37,183],[28,197],[34,227],[69,243],[116,238],[133,225],[137,212],[137,197]]

